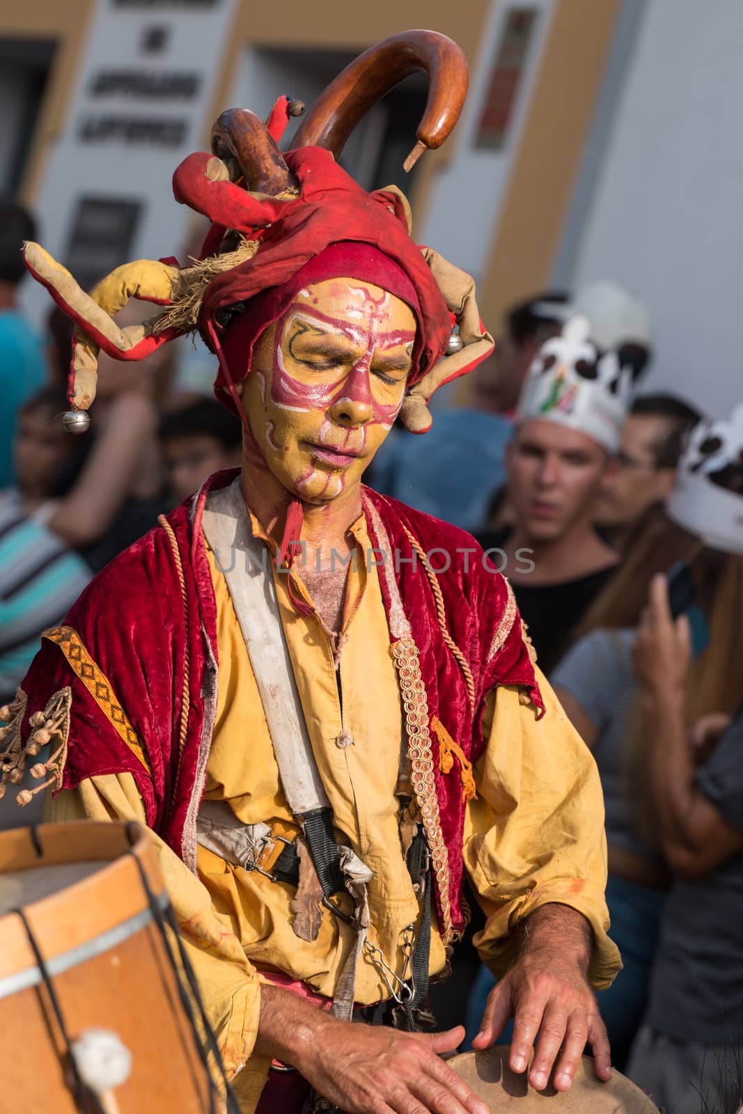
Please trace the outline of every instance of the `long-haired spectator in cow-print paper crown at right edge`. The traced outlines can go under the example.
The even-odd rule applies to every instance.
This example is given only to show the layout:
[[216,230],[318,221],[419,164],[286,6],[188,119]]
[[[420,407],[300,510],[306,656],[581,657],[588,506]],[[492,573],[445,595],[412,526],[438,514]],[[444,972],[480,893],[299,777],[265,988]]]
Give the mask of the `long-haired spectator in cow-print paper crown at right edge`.
[[[696,478],[693,469],[701,463],[698,447],[706,446],[713,453],[714,446],[722,443],[706,423],[697,430],[691,455],[682,460],[668,517],[648,522],[620,573],[586,616],[586,626],[590,619],[596,628],[575,644],[553,674],[567,714],[594,750],[604,785],[607,901],[624,969],[612,991],[600,995],[599,1005],[619,1068],[626,1064],[647,1004],[659,918],[671,881],[663,840],[647,822],[648,810],[637,808],[638,790],[647,783],[639,762],[647,746],[652,750],[655,745],[655,735],[639,716],[642,700],[637,698],[632,661],[634,627],[648,586],[664,565],[685,563],[683,575],[672,576],[671,588],[674,612],[684,610],[693,631],[685,722],[721,709],[732,711],[743,692],[743,635],[737,623],[743,606],[743,560],[737,556],[743,551],[743,532],[740,525],[733,525],[736,519],[740,522],[743,505],[740,495]],[[716,467],[714,459],[712,466]],[[725,467],[718,469],[723,480]],[[724,507],[721,517],[730,522],[727,536],[708,529],[704,521],[704,508],[710,504],[714,508],[717,497]],[[732,536],[735,531],[741,535],[737,540]],[[657,595],[657,584],[654,590]]]

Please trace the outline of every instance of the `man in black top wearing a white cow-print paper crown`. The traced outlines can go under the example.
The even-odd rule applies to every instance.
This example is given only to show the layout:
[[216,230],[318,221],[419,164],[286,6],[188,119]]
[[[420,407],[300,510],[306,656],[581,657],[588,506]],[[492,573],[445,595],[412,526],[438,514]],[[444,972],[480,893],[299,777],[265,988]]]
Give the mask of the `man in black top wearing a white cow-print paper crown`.
[[619,560],[592,519],[616,468],[632,370],[588,331],[571,319],[532,363],[506,457],[514,526],[479,538],[508,575],[548,674]]

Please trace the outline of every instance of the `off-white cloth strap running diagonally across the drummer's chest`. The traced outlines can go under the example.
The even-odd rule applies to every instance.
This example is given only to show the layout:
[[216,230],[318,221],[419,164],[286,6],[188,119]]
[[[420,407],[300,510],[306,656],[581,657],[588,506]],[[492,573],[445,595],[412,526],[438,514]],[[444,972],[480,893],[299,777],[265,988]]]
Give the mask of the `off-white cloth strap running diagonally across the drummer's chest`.
[[209,491],[203,528],[227,582],[289,807],[295,817],[329,809],[281,625],[271,555],[253,537],[239,477]]

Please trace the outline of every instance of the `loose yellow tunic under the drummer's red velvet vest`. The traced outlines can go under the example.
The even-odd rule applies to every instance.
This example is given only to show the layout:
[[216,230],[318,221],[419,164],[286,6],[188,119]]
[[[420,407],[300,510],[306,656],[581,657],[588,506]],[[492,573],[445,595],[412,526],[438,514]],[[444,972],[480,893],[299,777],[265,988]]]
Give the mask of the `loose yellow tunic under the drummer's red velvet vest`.
[[[260,532],[257,524],[254,529]],[[418,917],[402,856],[394,789],[402,741],[400,694],[389,653],[389,632],[377,569],[364,567],[370,546],[364,519],[352,528],[356,569],[349,571],[344,632],[336,672],[319,618],[297,614],[286,575],[274,571],[281,619],[317,768],[335,818],[336,833],[373,870],[369,886],[370,941],[387,962],[402,968],[401,932]],[[295,832],[250,658],[224,576],[209,554],[217,603],[218,698],[206,797],[226,800],[244,823],[265,821]],[[309,599],[299,578],[294,584]],[[592,978],[607,986],[619,967],[606,936],[606,847],[602,790],[594,760],[557,703],[544,676],[546,715],[519,703],[516,688],[493,692],[483,717],[488,746],[475,768],[477,799],[468,805],[465,863],[488,921],[476,940],[498,975],[508,961],[507,936],[536,908],[559,901],[590,921],[595,947]],[[348,734],[339,745],[341,733]],[[61,792],[53,819],[88,817],[145,822],[128,773],[91,778]],[[228,1071],[250,1056],[258,1023],[260,970],[278,970],[332,996],[352,929],[323,915],[317,939],[292,929],[291,887],[224,862],[198,848],[198,879],[162,841],[160,859],[170,898],[203,987]],[[431,974],[446,962],[432,932]],[[379,969],[362,957],[355,998],[389,997]],[[238,1076],[247,1112],[257,1101],[265,1063],[252,1057]]]

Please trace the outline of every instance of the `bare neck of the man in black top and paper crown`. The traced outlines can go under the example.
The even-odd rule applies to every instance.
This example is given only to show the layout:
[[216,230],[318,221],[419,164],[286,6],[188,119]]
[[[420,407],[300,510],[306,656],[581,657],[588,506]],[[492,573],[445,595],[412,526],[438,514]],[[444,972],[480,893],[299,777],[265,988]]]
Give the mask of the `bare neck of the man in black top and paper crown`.
[[[576,522],[559,538],[548,540],[530,537],[517,524],[505,548],[509,557],[507,575],[515,583],[525,585],[575,580],[598,573],[618,560],[616,550],[602,541],[588,519]],[[530,550],[524,556],[534,561],[531,573],[514,573],[512,563],[518,549]]]

